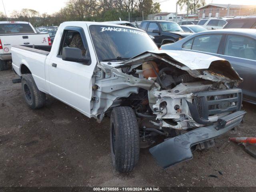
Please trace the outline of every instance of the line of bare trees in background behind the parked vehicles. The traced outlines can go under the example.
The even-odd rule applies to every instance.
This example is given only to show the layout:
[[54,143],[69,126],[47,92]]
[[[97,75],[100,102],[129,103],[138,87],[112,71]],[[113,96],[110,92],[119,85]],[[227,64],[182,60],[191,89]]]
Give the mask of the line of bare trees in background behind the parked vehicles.
[[[58,26],[64,21],[110,21],[132,20],[142,18],[142,14],[160,12],[160,4],[153,0],[69,0],[64,8],[54,14],[43,13],[33,9],[14,10],[9,20],[27,21],[33,26]],[[6,20],[0,12],[0,21]]]

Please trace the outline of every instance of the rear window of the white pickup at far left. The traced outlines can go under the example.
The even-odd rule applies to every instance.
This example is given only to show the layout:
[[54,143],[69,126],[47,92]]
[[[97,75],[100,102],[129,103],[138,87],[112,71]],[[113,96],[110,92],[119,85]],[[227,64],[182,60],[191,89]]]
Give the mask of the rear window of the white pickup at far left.
[[0,34],[35,33],[29,24],[0,24]]

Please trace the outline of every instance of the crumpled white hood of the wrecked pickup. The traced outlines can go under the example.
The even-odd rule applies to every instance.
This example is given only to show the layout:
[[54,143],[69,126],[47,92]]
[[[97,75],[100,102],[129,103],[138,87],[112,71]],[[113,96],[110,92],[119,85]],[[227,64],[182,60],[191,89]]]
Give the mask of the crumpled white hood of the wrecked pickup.
[[146,61],[166,62],[187,71],[191,76],[211,80],[214,82],[234,82],[236,86],[242,78],[232,68],[230,62],[222,58],[180,50],[155,50],[139,54],[129,60],[121,62],[116,68],[142,64]]

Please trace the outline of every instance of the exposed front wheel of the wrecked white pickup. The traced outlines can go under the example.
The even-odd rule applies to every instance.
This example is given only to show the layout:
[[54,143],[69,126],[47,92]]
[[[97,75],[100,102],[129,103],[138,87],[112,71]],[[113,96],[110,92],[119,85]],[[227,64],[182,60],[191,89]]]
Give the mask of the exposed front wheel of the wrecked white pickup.
[[136,115],[130,107],[116,107],[110,117],[110,148],[118,172],[130,172],[139,161],[140,136]]

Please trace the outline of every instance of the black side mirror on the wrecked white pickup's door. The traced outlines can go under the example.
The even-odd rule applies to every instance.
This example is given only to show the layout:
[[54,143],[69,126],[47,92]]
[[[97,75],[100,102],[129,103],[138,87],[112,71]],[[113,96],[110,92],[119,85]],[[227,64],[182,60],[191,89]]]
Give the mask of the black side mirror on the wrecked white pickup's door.
[[89,58],[85,58],[82,56],[82,50],[75,47],[64,47],[62,50],[62,60],[83,64],[88,64],[88,62],[90,61]]

